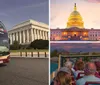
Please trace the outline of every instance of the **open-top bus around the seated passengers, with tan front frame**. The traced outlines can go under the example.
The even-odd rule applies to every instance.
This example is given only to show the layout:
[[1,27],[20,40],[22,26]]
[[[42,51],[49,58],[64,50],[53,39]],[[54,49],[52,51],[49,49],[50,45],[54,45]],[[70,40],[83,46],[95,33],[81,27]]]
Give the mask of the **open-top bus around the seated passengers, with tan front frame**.
[[[99,62],[100,64],[100,54],[99,55],[59,55],[59,58],[58,58],[58,61],[57,61],[57,64],[58,64],[58,68],[55,69],[55,71],[53,71],[51,73],[51,84],[50,85],[54,85],[53,81],[57,75],[57,72],[59,72],[60,68],[62,67],[65,67],[65,62],[66,62],[66,59],[70,59],[70,61],[72,62],[72,68],[75,70],[74,66],[75,66],[75,63],[78,59],[82,58],[82,61],[84,62],[84,65],[87,63],[87,62],[94,62],[95,64]],[[52,69],[52,67],[51,67]],[[77,71],[77,70],[75,70]],[[83,70],[84,71],[84,70]],[[97,71],[96,71],[97,72]],[[75,78],[75,75],[74,73],[71,75],[73,80],[75,81],[74,84],[72,85],[77,85],[76,84],[76,81],[80,78],[82,78],[83,76],[85,75],[85,72],[79,72],[77,77]],[[95,74],[96,76],[96,74]],[[100,76],[100,74],[99,74]],[[90,81],[90,82],[86,82],[85,85],[100,85],[100,81]]]

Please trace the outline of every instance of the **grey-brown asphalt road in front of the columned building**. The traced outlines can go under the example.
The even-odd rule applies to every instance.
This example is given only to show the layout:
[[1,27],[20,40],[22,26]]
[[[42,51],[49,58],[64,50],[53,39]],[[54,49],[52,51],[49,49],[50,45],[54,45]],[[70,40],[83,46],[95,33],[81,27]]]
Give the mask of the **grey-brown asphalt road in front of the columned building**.
[[0,85],[48,85],[48,59],[11,58],[0,65]]

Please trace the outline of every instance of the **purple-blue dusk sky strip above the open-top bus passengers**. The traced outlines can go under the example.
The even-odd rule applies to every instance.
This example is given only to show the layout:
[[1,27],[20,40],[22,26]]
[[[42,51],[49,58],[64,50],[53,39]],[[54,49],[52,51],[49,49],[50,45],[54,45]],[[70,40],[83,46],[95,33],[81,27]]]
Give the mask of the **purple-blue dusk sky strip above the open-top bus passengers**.
[[51,43],[52,50],[68,52],[100,52],[100,43]]

